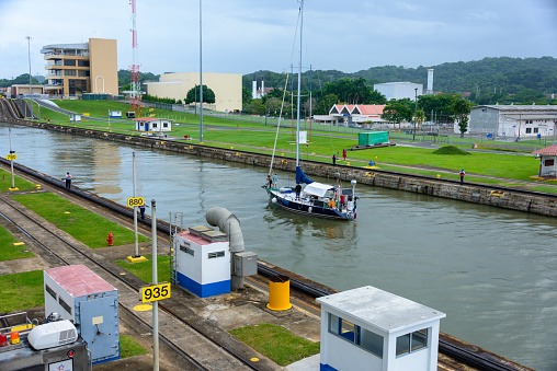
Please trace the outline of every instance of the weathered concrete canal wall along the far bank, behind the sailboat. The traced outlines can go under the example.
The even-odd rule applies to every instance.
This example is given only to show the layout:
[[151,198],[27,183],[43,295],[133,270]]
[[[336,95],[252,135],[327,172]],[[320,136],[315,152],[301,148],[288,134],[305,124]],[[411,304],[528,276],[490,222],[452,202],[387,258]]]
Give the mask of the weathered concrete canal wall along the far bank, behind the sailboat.
[[[269,167],[271,155],[247,153],[241,151],[211,148],[187,142],[178,142],[171,140],[160,140],[134,135],[122,135],[115,132],[96,131],[84,128],[75,128],[46,123],[30,123],[24,120],[8,120],[21,125],[34,126],[55,131],[81,135],[98,139],[112,140],[117,142],[134,143],[150,148],[163,149],[181,153],[189,153],[204,158],[240,162],[249,165]],[[276,156],[273,164],[274,169],[295,172],[296,161],[289,158]],[[539,213],[544,216],[557,217],[557,199],[531,195],[521,195],[512,193],[511,189],[504,193],[493,192],[493,189],[475,187],[473,185],[459,185],[453,182],[442,182],[435,178],[422,179],[410,176],[394,175],[373,172],[364,167],[352,166],[332,166],[328,164],[305,163],[304,172],[306,175],[317,175],[334,178],[336,173],[340,173],[342,181],[355,179],[360,184],[372,186],[400,189],[436,196],[452,198],[467,202],[497,206],[505,209],[520,210],[525,212]],[[264,179],[261,181],[263,184]],[[507,189],[505,189],[507,190]]]

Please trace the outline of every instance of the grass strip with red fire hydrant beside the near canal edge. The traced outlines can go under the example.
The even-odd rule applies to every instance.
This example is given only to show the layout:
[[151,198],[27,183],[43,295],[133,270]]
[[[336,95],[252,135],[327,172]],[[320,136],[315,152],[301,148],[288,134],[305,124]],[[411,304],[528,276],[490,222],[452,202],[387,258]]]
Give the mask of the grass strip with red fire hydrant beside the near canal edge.
[[[54,194],[15,195],[14,200],[91,248],[106,247],[109,232],[120,245],[134,243],[134,231]],[[150,241],[138,235],[139,242]]]

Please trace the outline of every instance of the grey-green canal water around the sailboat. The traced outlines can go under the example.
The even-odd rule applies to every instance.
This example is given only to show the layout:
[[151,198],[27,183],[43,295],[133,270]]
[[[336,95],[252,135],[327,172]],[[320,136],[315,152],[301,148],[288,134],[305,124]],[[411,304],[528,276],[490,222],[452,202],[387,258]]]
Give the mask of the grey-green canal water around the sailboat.
[[[5,156],[8,125],[0,134]],[[444,333],[557,370],[557,218],[357,185],[355,221],[310,219],[269,206],[263,167],[21,126],[11,137],[19,163],[60,179],[69,171],[72,185],[123,205],[135,151],[137,195],[157,200],[159,219],[206,224],[207,209],[224,207],[263,260],[338,290],[371,285],[418,301],[446,313]]]

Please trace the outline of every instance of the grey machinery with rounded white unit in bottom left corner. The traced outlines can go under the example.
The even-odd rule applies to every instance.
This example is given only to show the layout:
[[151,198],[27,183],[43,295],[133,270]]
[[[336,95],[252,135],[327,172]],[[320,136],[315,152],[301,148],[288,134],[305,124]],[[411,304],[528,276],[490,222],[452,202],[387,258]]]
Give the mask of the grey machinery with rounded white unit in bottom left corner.
[[36,325],[25,312],[4,315],[0,322],[0,371],[91,369],[87,343],[69,321]]

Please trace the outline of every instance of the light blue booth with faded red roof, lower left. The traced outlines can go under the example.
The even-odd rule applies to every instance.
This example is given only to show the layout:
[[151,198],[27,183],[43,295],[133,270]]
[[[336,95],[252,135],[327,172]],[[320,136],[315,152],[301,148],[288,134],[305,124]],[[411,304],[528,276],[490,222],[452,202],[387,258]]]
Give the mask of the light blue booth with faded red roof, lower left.
[[56,312],[76,325],[93,364],[120,358],[118,292],[83,265],[44,271],[45,317]]

